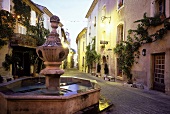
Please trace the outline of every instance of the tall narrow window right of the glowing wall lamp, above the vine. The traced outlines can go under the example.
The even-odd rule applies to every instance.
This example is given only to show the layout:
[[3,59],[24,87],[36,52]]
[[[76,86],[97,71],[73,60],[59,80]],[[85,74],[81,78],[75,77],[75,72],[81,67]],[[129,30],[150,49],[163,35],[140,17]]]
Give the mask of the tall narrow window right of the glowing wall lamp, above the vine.
[[117,27],[117,43],[123,41],[123,24],[119,24]]

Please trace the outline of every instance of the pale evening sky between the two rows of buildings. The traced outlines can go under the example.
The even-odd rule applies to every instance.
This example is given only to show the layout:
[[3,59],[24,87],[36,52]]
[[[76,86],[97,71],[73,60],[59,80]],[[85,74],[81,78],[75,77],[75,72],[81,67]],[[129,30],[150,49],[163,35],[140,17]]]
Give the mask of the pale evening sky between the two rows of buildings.
[[77,35],[87,27],[85,18],[93,0],[32,0],[45,6],[53,15],[60,18],[65,31],[70,33],[71,48],[77,51]]

